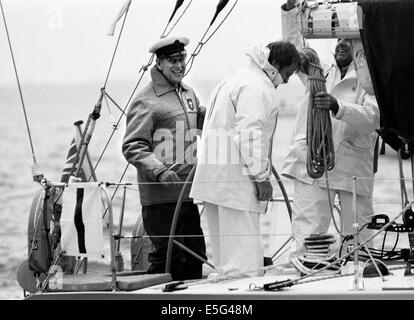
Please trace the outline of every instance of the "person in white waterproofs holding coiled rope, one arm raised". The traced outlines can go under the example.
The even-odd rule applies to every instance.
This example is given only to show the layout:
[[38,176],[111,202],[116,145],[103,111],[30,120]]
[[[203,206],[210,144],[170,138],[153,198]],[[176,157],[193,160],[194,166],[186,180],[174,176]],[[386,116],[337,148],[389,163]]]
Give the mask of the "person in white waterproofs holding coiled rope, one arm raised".
[[[304,41],[296,24],[295,1],[282,6],[283,39],[294,43],[300,51]],[[306,44],[306,42],[305,42]],[[353,47],[353,50],[352,50]],[[354,56],[354,59],[353,59]],[[329,197],[340,201],[341,232],[352,233],[353,176],[356,180],[357,213],[359,226],[373,214],[374,149],[379,128],[379,109],[372,90],[365,55],[360,41],[340,39],[335,48],[335,61],[322,65],[328,93],[319,98],[320,107],[329,105],[335,164],[328,171]],[[302,66],[306,65],[302,61]],[[298,73],[307,85],[306,75]],[[296,128],[282,175],[295,179],[293,195],[292,231],[296,242],[294,254],[305,250],[303,239],[311,234],[327,233],[331,223],[325,176],[313,180],[306,170],[306,121],[309,92],[298,109]],[[315,100],[318,104],[318,101]],[[361,233],[366,238],[369,232]]]

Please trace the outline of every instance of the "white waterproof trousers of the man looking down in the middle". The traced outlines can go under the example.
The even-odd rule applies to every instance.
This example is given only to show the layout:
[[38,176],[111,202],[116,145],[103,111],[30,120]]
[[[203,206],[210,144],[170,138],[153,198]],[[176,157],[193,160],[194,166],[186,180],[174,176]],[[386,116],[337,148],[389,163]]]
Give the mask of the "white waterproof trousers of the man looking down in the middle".
[[259,213],[203,204],[216,268],[209,278],[263,275]]

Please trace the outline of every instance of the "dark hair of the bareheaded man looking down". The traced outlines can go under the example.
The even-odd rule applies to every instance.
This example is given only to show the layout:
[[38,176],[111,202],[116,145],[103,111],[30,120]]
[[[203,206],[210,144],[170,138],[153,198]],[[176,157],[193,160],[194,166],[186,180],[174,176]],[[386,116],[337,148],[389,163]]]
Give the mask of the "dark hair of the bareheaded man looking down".
[[279,69],[296,63],[297,68],[300,67],[300,56],[295,46],[288,41],[275,41],[267,45],[270,49],[269,63],[278,66]]

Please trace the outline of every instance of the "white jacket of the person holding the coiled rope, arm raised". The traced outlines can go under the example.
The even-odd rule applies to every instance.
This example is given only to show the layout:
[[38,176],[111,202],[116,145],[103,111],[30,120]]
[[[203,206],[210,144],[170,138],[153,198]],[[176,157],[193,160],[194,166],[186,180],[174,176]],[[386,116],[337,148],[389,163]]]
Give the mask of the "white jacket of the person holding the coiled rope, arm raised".
[[[284,40],[303,46],[302,37],[296,25],[295,9],[283,11],[282,32]],[[327,92],[338,101],[339,109],[332,117],[332,132],[335,147],[335,165],[328,172],[329,186],[332,189],[352,192],[352,177],[361,178],[356,185],[359,195],[371,196],[374,187],[373,158],[374,147],[379,128],[379,109],[375,96],[367,94],[357,79],[354,63],[341,79],[338,66],[323,66]],[[299,74],[304,84],[307,78]],[[296,128],[289,154],[282,169],[282,175],[312,184],[306,171],[306,121],[309,92],[299,106]],[[325,178],[319,181],[326,186]]]

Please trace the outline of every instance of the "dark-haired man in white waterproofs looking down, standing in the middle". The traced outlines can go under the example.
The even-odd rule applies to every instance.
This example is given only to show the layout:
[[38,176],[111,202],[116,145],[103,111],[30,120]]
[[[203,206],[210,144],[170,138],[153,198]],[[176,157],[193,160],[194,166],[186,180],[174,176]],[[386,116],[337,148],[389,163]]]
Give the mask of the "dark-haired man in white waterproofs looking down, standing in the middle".
[[[247,53],[249,65],[212,92],[190,197],[202,202],[216,273],[260,274],[259,214],[272,197],[275,88],[298,70],[291,43],[272,42]],[[251,272],[249,272],[251,271]]]

